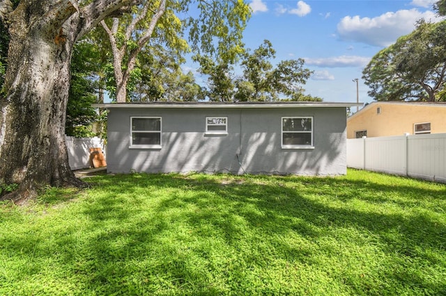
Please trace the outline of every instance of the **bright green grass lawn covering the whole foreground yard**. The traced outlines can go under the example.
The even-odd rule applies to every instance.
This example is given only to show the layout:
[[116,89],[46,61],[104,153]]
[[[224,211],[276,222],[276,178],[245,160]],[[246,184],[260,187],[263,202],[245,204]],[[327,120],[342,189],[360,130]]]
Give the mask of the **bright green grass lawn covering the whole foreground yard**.
[[446,295],[446,186],[129,174],[0,206],[0,295]]

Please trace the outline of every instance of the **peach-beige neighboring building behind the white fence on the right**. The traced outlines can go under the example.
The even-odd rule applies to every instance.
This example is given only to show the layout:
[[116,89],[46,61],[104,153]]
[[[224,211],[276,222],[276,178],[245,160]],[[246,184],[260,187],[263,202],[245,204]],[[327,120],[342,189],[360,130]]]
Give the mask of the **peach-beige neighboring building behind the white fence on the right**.
[[446,133],[446,102],[374,101],[347,119],[347,138]]

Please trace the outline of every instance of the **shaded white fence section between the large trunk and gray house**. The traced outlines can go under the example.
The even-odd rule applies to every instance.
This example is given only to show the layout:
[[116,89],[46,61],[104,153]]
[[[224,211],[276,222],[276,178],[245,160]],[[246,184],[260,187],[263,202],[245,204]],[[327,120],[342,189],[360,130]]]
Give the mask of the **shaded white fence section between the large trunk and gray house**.
[[104,140],[94,138],[75,138],[66,136],[68,150],[68,163],[71,170],[80,170],[91,167],[90,148],[102,148],[105,153]]

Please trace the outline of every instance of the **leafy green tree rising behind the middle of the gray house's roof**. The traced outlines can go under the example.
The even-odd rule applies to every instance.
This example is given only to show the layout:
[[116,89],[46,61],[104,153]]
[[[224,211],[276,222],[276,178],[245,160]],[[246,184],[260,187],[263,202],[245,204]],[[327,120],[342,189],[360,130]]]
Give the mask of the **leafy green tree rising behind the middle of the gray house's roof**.
[[226,60],[217,61],[208,56],[196,56],[199,72],[208,76],[207,97],[211,101],[277,101],[282,95],[294,101],[321,101],[303,94],[312,71],[304,67],[305,61],[282,60],[273,65],[275,49],[269,40],[254,51],[246,50],[240,57],[241,76]]

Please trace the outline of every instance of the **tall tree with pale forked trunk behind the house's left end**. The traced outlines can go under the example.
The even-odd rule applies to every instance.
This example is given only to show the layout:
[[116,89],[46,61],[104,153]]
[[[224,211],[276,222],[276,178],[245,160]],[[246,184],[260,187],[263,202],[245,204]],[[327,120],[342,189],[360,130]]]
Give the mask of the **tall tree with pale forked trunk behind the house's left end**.
[[[242,0],[160,0],[143,1],[134,7],[132,14],[102,21],[112,48],[116,101],[131,99],[128,83],[132,76],[142,78],[144,65],[138,60],[142,55],[164,54],[154,47],[164,47],[164,52],[170,54],[169,60],[177,63],[191,49],[196,54],[203,52],[230,62],[235,60],[243,52],[242,31],[249,15],[249,7]],[[152,60],[157,60],[156,56]],[[169,66],[171,80],[179,65]],[[185,79],[182,75],[176,78],[177,82]],[[155,86],[152,90],[158,88],[163,92],[162,85],[152,86]]]

